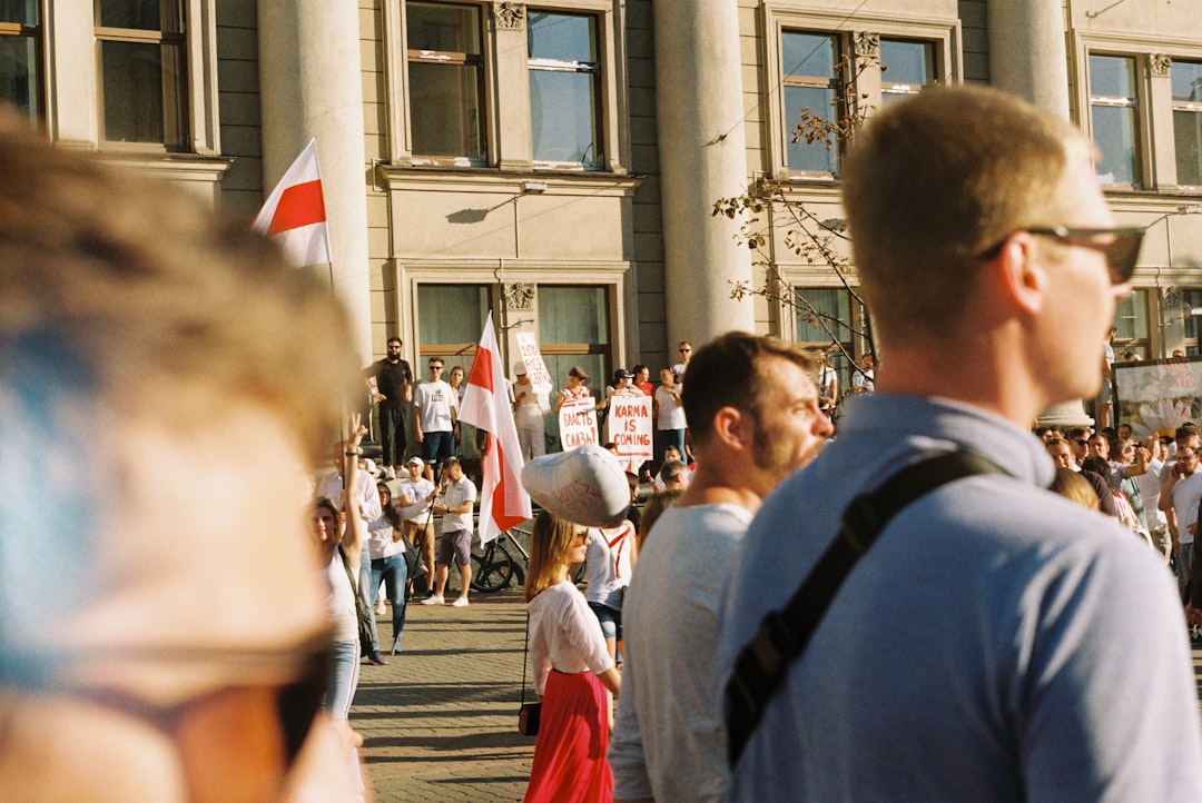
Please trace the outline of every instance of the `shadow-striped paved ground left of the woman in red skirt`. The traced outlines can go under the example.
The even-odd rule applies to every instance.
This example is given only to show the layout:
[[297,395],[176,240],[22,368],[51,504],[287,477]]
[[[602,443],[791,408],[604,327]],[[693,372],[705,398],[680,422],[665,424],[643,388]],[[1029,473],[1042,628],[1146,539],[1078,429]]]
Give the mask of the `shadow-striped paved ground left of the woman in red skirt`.
[[[383,645],[391,621],[377,617]],[[351,707],[377,803],[522,799],[534,756],[517,732],[524,629],[520,588],[472,593],[468,607],[409,604],[404,654],[363,664]]]

